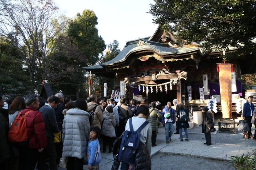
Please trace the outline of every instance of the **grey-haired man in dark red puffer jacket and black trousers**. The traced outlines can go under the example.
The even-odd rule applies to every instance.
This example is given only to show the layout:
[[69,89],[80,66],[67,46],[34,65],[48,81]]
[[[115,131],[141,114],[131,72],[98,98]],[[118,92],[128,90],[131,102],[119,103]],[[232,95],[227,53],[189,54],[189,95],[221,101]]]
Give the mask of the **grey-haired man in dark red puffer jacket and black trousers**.
[[42,113],[37,110],[39,107],[37,95],[31,94],[26,96],[25,103],[27,107],[21,111],[22,114],[33,110],[26,115],[27,133],[31,138],[26,147],[19,149],[19,170],[33,170],[35,169],[39,153],[42,153],[48,144],[44,118]]

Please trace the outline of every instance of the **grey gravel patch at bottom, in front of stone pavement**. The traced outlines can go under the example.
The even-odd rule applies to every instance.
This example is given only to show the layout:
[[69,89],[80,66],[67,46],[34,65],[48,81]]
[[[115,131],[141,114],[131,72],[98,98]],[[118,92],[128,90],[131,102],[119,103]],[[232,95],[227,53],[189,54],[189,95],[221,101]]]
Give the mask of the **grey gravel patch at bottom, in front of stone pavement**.
[[151,158],[152,170],[225,170],[227,162],[159,153]]

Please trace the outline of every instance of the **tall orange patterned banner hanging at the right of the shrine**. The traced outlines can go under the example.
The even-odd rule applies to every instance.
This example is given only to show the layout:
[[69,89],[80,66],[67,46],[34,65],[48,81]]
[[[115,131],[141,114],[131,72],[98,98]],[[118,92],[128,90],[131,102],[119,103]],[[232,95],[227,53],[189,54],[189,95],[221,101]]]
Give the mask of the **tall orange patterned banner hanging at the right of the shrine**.
[[232,118],[232,64],[219,64],[219,88],[223,118]]

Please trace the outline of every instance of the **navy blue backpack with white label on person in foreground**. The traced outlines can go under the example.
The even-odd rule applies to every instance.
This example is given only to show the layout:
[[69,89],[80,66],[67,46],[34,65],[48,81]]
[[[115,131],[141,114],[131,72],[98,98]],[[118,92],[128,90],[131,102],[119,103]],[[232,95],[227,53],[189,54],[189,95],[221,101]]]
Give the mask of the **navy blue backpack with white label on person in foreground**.
[[120,162],[135,165],[135,152],[139,149],[140,145],[140,133],[149,122],[146,120],[138,130],[133,131],[132,118],[129,119],[130,130],[124,131],[120,149],[118,153],[118,160]]

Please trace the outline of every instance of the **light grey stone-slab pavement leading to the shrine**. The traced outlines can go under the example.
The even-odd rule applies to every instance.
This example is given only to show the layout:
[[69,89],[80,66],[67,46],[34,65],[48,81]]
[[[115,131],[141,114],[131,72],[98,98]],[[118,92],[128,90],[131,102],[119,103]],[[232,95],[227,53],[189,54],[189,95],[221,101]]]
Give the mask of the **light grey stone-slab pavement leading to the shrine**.
[[[185,141],[185,133],[183,132],[184,141],[180,141],[180,135],[172,135],[172,141],[166,143],[165,141],[165,129],[162,125],[158,128],[157,134],[157,146],[151,147],[151,157],[158,153],[168,153],[177,155],[190,155],[199,158],[214,159],[221,161],[229,161],[232,155],[241,156],[242,154],[252,153],[255,149],[256,141],[252,139],[245,140],[242,132],[238,131],[236,127],[236,134],[233,132],[218,133],[218,123],[215,123],[216,131],[211,133],[212,145],[203,145],[205,141],[204,134],[202,133],[202,127],[193,127],[188,130],[189,141]],[[255,127],[252,128],[254,133]],[[100,142],[101,148],[103,143]],[[113,164],[113,155],[101,150],[101,163],[99,169],[110,170]],[[59,170],[64,170],[58,167]],[[87,165],[83,166],[84,170],[87,170]]]

